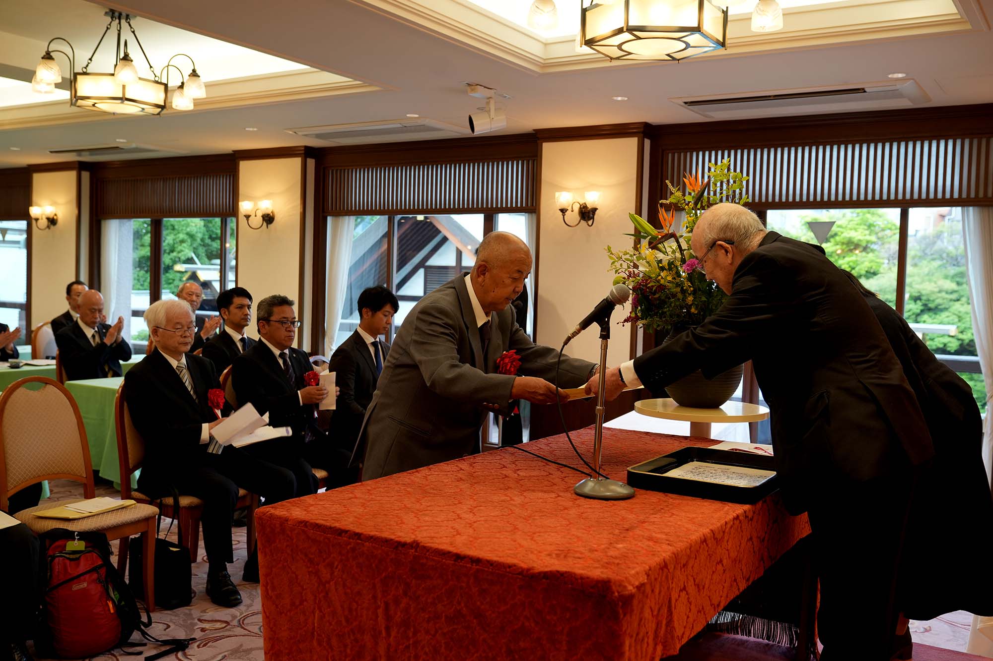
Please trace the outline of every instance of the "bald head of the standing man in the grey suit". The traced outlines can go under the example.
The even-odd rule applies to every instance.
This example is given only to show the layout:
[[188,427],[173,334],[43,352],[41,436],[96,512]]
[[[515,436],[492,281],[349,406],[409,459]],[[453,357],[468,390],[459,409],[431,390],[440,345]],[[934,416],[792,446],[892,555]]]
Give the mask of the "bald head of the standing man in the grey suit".
[[503,310],[524,289],[531,273],[527,244],[507,232],[487,234],[476,251],[473,289],[486,313]]

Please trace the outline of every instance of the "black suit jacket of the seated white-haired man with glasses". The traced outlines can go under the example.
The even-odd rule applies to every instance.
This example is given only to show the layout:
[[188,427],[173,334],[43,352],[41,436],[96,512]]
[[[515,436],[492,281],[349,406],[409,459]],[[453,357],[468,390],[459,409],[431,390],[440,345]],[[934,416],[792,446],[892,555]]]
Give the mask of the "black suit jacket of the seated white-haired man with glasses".
[[[146,495],[166,490],[175,472],[199,464],[207,452],[207,444],[200,442],[203,425],[217,419],[208,391],[220,388],[220,383],[207,358],[187,354],[186,364],[197,391],[196,400],[158,349],[124,377],[124,399],[135,429],[145,441],[139,486]],[[221,415],[229,411],[225,405]]]

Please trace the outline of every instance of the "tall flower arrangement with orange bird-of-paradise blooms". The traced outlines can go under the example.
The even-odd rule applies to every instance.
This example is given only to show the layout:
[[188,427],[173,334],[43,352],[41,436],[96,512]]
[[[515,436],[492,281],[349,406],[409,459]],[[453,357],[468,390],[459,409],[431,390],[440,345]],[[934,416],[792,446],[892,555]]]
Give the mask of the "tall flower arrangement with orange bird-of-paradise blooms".
[[[698,269],[700,262],[690,241],[693,227],[709,206],[748,201],[745,182],[749,178],[731,171],[730,163],[725,159],[708,164],[708,178],[702,183],[699,174],[685,174],[685,191],[665,182],[669,197],[658,201],[659,227],[628,214],[635,231],[626,236],[635,237],[638,243],[624,250],[607,246],[614,284],[624,283],[632,291],[631,314],[622,324],[638,324],[646,331],[698,326],[724,304],[724,292]],[[676,222],[677,210],[686,214],[682,227]]]

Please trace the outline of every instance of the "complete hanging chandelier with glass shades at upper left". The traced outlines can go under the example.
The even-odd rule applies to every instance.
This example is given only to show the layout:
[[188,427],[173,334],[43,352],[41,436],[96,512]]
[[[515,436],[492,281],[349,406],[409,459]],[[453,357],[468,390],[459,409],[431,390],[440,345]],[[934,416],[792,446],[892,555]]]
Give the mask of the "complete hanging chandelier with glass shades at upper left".
[[[169,59],[163,67],[165,80],[159,73],[156,73],[145,49],[138,39],[138,33],[131,25],[131,16],[121,12],[109,10],[104,16],[110,17],[110,22],[103,30],[103,35],[96,43],[93,53],[89,56],[85,66],[81,70],[75,70],[75,49],[72,48],[69,40],[56,37],[49,42],[45,55],[35,69],[35,77],[31,80],[31,88],[39,93],[46,94],[55,91],[57,83],[62,82],[62,69],[56,63],[53,53],[60,53],[66,56],[71,66],[71,89],[70,105],[89,110],[99,110],[112,114],[146,114],[158,115],[166,109],[166,98],[169,93],[169,70],[175,68],[180,72],[180,85],[173,92],[173,108],[176,110],[192,110],[193,99],[207,96],[207,88],[197,72],[197,65],[193,58],[186,54],[178,54]],[[127,24],[131,30],[141,55],[145,58],[145,63],[152,73],[151,78],[143,78],[138,75],[138,69],[134,66],[134,61],[127,50],[127,40],[124,40],[124,50],[121,52],[121,21]],[[98,73],[89,71],[89,65],[93,62],[100,44],[107,36],[107,33],[117,24],[117,48],[114,51],[114,70],[112,73]],[[52,48],[54,42],[64,42],[69,46],[70,54]],[[183,77],[183,69],[176,66],[173,60],[176,58],[186,58],[190,61],[190,74]]]

